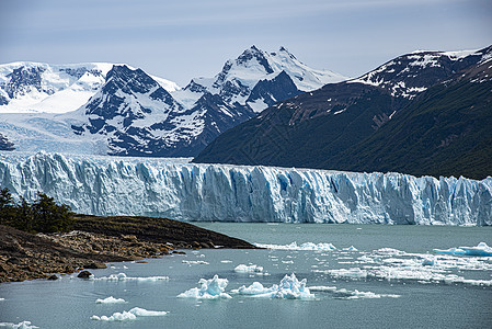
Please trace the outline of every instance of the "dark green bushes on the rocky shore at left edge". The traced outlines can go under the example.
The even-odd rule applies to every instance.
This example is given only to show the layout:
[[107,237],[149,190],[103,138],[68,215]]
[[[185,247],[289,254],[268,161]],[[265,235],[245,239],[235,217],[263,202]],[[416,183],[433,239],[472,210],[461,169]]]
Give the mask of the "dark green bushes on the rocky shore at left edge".
[[37,200],[30,204],[21,197],[15,203],[8,189],[0,190],[0,224],[32,232],[68,231],[73,217],[68,205],[58,205],[53,197],[37,193]]

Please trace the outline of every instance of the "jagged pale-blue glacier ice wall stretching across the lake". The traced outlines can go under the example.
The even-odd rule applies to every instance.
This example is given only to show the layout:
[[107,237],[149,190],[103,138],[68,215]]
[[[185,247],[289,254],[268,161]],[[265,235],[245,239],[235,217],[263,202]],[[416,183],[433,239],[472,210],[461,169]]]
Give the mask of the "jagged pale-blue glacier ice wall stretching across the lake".
[[0,185],[77,213],[180,220],[492,225],[492,178],[0,156]]

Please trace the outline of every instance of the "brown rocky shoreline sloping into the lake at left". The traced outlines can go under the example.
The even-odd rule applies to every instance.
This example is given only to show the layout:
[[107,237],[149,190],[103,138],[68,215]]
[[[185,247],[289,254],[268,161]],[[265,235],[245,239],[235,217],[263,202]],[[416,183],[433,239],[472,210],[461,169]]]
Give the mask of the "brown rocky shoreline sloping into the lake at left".
[[104,269],[106,262],[160,258],[176,249],[252,249],[247,241],[188,223],[152,217],[75,216],[65,234],[32,235],[0,225],[0,283]]

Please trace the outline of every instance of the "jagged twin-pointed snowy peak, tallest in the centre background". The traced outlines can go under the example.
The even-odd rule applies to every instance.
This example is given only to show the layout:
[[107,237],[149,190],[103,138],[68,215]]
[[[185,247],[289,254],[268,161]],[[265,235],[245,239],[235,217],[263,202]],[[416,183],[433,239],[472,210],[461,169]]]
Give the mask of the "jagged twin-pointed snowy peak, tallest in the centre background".
[[[267,53],[251,46],[238,58],[226,61],[214,78],[193,79],[175,97],[193,103],[208,92],[230,104],[249,105],[261,112],[286,98],[347,79],[329,70],[312,69],[284,47]],[[262,91],[254,90],[259,82],[263,84]]]

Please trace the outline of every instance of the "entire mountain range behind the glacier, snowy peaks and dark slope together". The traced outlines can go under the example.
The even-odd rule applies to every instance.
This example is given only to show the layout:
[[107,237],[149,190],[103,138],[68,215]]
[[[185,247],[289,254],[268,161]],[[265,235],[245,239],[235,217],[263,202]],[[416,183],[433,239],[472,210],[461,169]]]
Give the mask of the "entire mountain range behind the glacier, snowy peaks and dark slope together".
[[0,149],[195,157],[415,175],[492,173],[492,46],[355,79],[252,46],[180,88],[124,64],[0,65]]

